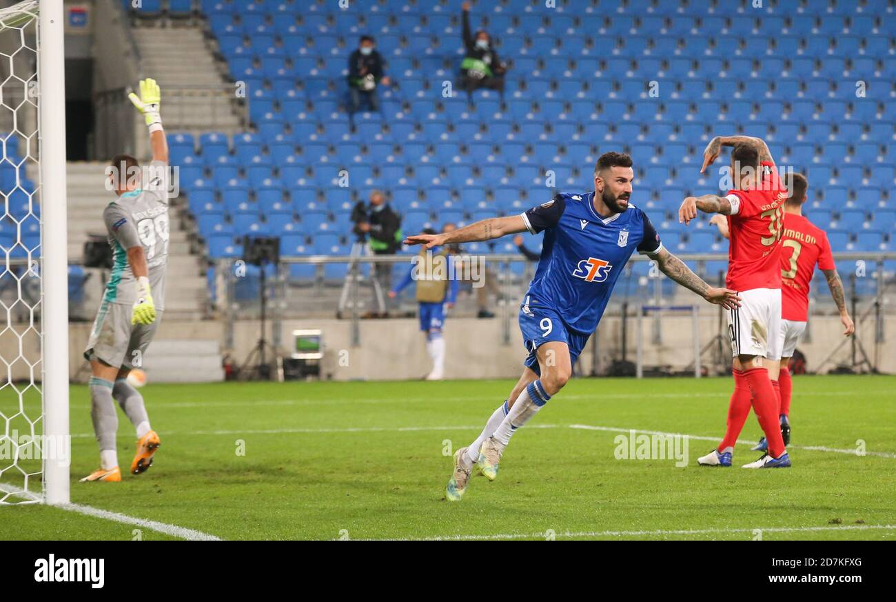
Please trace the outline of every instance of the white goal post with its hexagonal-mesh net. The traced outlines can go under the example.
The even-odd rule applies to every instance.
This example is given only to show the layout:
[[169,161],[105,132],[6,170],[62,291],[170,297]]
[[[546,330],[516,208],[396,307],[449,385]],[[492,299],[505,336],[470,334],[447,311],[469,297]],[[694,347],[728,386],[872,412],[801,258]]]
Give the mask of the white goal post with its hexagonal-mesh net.
[[69,503],[64,44],[63,0],[0,10],[0,504]]

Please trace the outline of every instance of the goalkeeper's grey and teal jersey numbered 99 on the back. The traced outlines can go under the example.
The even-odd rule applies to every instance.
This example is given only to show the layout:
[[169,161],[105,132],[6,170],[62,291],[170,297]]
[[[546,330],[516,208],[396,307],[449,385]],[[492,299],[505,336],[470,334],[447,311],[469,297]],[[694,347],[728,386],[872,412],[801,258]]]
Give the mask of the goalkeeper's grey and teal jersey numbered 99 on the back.
[[[153,161],[153,167],[164,166]],[[149,268],[152,301],[165,308],[165,271],[168,264],[168,190],[153,180],[148,190],[124,193],[103,211],[103,220],[112,246],[112,274],[106,284],[104,301],[134,305],[137,279],[127,262],[127,250],[142,245]]]

